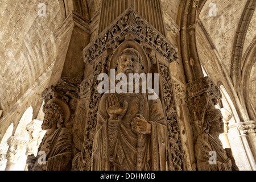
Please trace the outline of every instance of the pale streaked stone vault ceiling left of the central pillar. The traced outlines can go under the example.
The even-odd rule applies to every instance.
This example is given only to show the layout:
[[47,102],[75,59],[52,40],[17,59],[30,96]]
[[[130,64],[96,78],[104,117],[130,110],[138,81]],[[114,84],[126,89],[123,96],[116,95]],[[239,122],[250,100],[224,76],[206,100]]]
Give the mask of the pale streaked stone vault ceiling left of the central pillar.
[[[46,5],[45,17],[38,15],[41,2]],[[67,16],[65,9],[90,20],[100,10],[100,0],[73,3],[71,0],[0,0],[0,110],[3,114],[54,61],[55,32]]]

